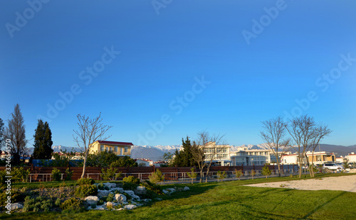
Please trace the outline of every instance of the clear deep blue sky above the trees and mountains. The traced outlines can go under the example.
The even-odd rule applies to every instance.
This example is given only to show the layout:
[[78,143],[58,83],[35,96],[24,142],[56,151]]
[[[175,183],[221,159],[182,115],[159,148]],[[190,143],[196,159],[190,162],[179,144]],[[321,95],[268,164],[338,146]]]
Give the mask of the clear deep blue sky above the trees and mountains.
[[74,146],[101,111],[110,141],[258,144],[308,114],[356,144],[356,1],[42,1],[0,1],[0,117],[19,103],[28,139],[43,119]]

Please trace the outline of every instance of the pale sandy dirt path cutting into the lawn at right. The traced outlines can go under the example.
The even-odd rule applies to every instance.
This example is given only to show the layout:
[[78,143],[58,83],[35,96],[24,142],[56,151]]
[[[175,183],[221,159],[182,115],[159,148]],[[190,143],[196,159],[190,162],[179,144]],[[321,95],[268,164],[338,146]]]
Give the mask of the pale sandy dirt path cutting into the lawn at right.
[[325,177],[322,179],[310,180],[291,180],[283,182],[266,182],[253,185],[246,185],[248,187],[286,187],[290,189],[303,190],[342,190],[347,192],[356,192],[356,175],[342,176],[342,177]]

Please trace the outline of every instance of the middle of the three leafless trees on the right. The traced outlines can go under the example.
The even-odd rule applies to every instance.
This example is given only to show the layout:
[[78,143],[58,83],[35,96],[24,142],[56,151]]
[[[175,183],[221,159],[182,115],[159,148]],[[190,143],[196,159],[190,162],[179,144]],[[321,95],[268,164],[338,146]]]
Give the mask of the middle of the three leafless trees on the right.
[[292,136],[295,145],[292,148],[298,153],[299,178],[302,177],[303,158],[310,145],[315,143],[315,138],[318,136],[315,129],[315,121],[313,117],[308,115],[300,116],[299,118],[291,119],[286,125],[286,129]]

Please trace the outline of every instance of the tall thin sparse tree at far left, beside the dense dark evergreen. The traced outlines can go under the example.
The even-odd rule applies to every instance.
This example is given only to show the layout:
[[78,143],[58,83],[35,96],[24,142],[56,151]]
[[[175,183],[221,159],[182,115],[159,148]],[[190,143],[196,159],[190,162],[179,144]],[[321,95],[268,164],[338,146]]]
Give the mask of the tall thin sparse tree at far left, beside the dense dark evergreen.
[[28,153],[26,148],[27,140],[25,134],[26,126],[23,124],[23,116],[21,114],[20,105],[16,104],[14,112],[11,114],[12,119],[8,120],[9,125],[5,129],[5,138],[10,139],[11,155],[14,157],[14,164],[20,163],[21,155]]

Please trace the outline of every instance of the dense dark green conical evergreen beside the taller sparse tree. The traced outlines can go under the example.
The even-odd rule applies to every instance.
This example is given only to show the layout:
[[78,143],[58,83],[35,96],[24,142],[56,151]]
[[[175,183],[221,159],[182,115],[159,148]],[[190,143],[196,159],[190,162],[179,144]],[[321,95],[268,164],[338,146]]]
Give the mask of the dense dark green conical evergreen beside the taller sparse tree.
[[35,130],[35,143],[33,146],[33,159],[51,159],[53,153],[52,149],[52,132],[48,126],[47,121],[43,123],[41,119],[38,120],[38,126]]

